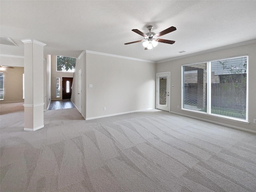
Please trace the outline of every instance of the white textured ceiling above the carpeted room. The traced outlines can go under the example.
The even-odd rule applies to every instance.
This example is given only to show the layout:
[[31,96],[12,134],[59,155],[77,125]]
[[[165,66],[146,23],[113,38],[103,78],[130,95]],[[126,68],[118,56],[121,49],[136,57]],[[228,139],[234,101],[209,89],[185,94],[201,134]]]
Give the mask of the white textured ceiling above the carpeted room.
[[[1,36],[18,46],[1,45],[0,53],[24,55],[21,39],[46,43],[45,54],[78,57],[91,50],[161,61],[256,39],[256,1],[0,1]],[[144,50],[132,32],[158,33],[174,44]],[[184,53],[177,53],[185,50]]]

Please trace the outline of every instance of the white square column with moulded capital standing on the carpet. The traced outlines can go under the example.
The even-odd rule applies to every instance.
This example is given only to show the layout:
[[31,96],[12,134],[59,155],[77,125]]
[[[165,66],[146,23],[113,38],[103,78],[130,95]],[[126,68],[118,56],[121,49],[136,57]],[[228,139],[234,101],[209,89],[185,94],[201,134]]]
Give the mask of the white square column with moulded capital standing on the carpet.
[[24,43],[24,130],[44,127],[44,46],[33,39]]

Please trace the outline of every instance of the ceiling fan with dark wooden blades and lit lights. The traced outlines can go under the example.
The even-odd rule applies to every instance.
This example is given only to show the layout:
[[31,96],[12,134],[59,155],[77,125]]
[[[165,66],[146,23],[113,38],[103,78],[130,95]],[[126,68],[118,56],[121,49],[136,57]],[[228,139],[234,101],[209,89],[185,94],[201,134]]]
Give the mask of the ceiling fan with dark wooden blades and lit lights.
[[168,43],[168,44],[174,44],[175,43],[175,41],[159,39],[158,37],[175,31],[176,27],[174,27],[174,26],[169,27],[168,29],[161,31],[158,34],[155,34],[155,33],[151,32],[151,30],[153,28],[152,25],[148,26],[147,28],[148,28],[149,32],[146,33],[146,34],[144,34],[143,32],[141,32],[138,29],[133,29],[132,31],[138,33],[141,36],[143,36],[144,40],[138,40],[138,41],[133,41],[133,42],[125,43],[125,45],[132,44],[132,43],[143,42],[142,44],[145,47],[145,50],[147,50],[147,49],[152,49],[153,47],[157,46],[158,42]]

